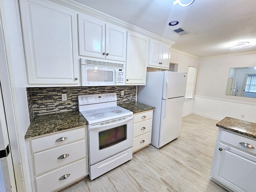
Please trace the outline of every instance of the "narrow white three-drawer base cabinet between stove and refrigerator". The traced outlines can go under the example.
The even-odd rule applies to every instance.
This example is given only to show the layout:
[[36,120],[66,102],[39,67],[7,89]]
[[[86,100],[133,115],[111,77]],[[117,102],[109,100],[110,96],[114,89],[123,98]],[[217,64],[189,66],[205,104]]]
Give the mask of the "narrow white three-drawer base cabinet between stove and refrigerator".
[[151,143],[152,117],[153,110],[134,114],[132,152]]

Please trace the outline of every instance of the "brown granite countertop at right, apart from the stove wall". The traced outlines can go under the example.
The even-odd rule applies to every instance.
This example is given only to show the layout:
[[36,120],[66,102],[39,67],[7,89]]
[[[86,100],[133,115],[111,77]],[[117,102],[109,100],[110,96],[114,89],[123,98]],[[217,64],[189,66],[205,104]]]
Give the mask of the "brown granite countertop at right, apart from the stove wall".
[[240,133],[252,138],[256,138],[256,123],[235,119],[232,117],[225,117],[216,126]]

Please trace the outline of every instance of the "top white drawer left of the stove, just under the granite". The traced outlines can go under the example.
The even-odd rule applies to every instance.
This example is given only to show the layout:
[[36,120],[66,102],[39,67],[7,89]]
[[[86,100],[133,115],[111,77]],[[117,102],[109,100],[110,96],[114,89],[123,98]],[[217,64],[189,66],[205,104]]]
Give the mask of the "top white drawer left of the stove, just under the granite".
[[[59,138],[64,138],[64,140],[56,141]],[[74,130],[69,130],[69,131],[45,136],[45,137],[32,139],[30,141],[31,150],[32,150],[32,153],[36,153],[38,151],[46,150],[52,147],[60,146],[60,145],[70,143],[76,140],[84,139],[84,138],[85,138],[85,127],[82,127]]]

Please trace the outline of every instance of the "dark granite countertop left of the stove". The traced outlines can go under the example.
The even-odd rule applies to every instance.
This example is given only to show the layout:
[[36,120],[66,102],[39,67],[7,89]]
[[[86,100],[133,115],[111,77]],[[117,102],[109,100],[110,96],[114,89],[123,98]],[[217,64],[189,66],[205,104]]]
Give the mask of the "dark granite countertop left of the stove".
[[35,116],[28,126],[25,138],[76,128],[87,124],[88,122],[79,111],[39,115]]

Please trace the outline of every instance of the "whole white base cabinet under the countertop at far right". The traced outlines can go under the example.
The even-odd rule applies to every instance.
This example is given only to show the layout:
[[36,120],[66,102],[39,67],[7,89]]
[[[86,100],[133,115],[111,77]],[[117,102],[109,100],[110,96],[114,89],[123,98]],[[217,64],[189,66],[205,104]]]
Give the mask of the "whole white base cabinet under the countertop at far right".
[[228,190],[254,192],[256,189],[256,141],[240,135],[220,128],[210,176],[212,180]]

